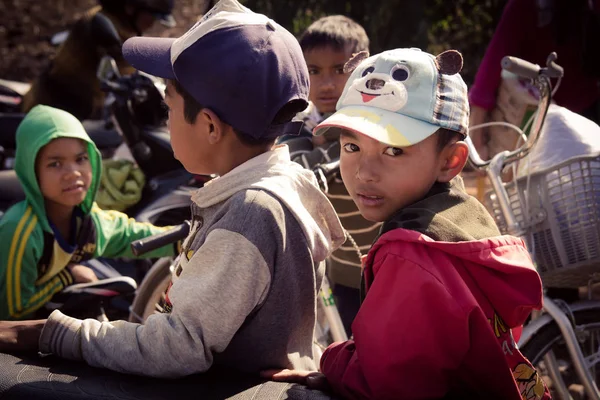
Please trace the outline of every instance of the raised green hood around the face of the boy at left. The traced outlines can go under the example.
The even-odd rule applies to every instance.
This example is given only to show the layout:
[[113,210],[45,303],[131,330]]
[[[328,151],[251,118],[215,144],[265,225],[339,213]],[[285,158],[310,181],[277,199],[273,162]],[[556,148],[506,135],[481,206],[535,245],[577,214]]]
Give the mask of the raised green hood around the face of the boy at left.
[[44,196],[38,185],[35,163],[42,147],[59,138],[75,138],[87,142],[93,176],[85,200],[79,206],[85,214],[92,209],[102,174],[100,152],[77,118],[66,111],[44,105],[35,106],[27,113],[17,129],[15,172],[23,186],[27,202],[47,232],[52,230],[46,216]]

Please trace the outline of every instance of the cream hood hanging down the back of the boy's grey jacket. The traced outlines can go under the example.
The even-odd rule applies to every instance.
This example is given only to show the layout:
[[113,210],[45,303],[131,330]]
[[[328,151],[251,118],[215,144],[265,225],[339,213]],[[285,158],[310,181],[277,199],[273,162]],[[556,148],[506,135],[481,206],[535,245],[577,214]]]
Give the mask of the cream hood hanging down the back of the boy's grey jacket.
[[312,171],[290,161],[287,146],[279,146],[209,181],[192,196],[200,207],[225,201],[245,189],[263,189],[278,198],[304,231],[315,262],[325,260],[346,235],[335,209],[319,190]]

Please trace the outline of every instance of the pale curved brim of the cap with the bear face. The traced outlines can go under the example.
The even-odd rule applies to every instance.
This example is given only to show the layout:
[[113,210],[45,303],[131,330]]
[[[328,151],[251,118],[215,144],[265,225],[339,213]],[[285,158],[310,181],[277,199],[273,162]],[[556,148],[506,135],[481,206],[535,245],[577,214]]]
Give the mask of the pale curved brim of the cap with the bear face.
[[329,128],[347,129],[394,147],[417,144],[440,129],[439,126],[380,108],[347,106],[336,111],[313,130],[323,135]]

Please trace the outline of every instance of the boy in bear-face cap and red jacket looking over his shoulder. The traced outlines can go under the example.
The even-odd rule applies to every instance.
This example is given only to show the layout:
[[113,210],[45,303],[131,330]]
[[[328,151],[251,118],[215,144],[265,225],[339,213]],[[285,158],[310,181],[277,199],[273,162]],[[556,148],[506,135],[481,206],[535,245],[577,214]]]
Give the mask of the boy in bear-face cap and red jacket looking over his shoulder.
[[323,375],[266,371],[351,399],[549,399],[512,329],[542,306],[524,242],[501,236],[458,175],[468,156],[467,89],[454,50],[359,54],[338,110],[341,173],[361,214],[382,221],[364,267],[354,339]]

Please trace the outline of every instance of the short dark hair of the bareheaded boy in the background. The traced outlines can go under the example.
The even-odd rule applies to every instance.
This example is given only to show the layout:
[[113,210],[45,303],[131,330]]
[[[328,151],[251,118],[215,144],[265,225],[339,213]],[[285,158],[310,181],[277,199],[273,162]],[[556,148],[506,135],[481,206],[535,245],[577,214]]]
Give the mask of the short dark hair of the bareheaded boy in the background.
[[313,22],[300,36],[302,51],[317,47],[333,47],[344,50],[350,47],[352,54],[369,50],[369,37],[365,29],[343,15],[330,15]]

